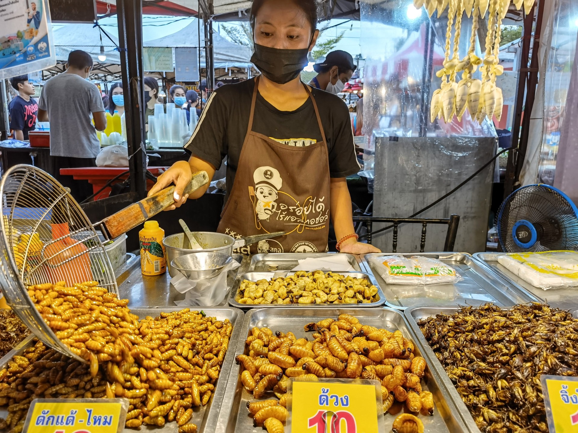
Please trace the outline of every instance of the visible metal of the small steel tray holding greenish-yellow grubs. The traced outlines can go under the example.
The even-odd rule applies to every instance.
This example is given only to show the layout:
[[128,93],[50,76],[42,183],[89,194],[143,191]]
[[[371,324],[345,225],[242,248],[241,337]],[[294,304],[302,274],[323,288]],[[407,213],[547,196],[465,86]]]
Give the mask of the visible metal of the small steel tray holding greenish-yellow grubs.
[[[277,271],[277,272],[249,272],[244,274],[239,274],[235,280],[235,283],[231,289],[231,293],[229,293],[229,305],[232,307],[237,308],[303,308],[307,307],[306,304],[258,304],[258,305],[246,305],[241,304],[238,302],[238,292],[239,286],[243,282],[243,279],[248,279],[249,281],[258,281],[260,279],[271,279],[276,277],[286,277],[287,275],[295,274],[294,271]],[[386,302],[386,298],[383,296],[383,292],[381,291],[379,285],[373,278],[373,275],[370,273],[365,272],[338,272],[336,274],[341,275],[350,275],[353,278],[367,278],[370,283],[377,287],[377,300],[375,302],[369,304],[347,304],[349,308],[370,308],[370,307],[379,307]],[[335,308],[337,305],[345,305],[345,304],[314,304],[315,308]]]

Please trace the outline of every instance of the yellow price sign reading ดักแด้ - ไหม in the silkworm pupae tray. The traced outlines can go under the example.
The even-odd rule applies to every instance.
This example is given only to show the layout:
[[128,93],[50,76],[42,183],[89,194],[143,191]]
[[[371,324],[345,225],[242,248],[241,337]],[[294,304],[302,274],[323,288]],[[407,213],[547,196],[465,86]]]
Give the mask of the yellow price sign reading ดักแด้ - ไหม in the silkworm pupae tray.
[[24,423],[27,433],[117,433],[123,430],[124,398],[42,398],[32,401]]

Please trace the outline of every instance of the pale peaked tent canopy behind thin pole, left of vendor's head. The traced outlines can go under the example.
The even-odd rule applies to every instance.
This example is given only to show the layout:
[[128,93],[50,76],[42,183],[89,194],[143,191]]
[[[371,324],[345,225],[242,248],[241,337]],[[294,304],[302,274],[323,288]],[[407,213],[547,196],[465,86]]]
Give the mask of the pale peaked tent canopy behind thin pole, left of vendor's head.
[[[198,47],[199,28],[198,21],[194,20],[187,27],[172,35],[164,36],[154,40],[146,40],[144,47]],[[202,27],[201,27],[202,28]],[[201,68],[206,67],[205,62],[205,40],[201,35]],[[251,48],[234,44],[219,35],[213,36],[213,57],[214,68],[251,68]]]

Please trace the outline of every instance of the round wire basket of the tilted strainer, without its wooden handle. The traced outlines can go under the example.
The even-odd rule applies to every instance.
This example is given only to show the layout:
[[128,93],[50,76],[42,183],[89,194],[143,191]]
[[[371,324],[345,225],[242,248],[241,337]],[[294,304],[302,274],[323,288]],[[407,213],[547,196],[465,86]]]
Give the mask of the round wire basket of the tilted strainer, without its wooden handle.
[[28,286],[80,280],[66,281],[71,286],[88,279],[118,294],[98,233],[68,190],[36,167],[17,165],[6,171],[0,178],[0,200],[0,288],[6,301],[36,337],[86,362],[50,329],[28,296]]

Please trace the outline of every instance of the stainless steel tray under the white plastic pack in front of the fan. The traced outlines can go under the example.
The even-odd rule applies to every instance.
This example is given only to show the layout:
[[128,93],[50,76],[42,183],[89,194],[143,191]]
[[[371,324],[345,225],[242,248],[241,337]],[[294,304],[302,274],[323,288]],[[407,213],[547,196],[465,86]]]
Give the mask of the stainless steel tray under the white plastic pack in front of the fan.
[[551,307],[561,309],[578,308],[578,289],[550,289],[544,290],[534,287],[525,282],[518,275],[507,270],[505,266],[498,263],[498,257],[506,253],[475,253],[474,259],[498,274],[506,283],[516,287],[520,292],[524,292],[528,297],[535,298],[535,301],[547,302]]

